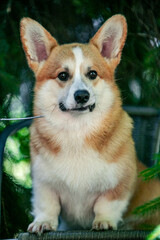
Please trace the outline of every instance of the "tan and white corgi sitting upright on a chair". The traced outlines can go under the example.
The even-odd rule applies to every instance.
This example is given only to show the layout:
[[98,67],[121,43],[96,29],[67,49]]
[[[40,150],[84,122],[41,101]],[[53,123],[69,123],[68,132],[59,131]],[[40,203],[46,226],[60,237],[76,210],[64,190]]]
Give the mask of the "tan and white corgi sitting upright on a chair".
[[34,221],[28,231],[57,230],[60,214],[71,229],[117,229],[135,207],[160,195],[158,181],[137,178],[145,167],[114,78],[126,19],[114,15],[87,44],[59,45],[30,18],[20,30],[36,78],[34,115],[44,116],[30,129]]

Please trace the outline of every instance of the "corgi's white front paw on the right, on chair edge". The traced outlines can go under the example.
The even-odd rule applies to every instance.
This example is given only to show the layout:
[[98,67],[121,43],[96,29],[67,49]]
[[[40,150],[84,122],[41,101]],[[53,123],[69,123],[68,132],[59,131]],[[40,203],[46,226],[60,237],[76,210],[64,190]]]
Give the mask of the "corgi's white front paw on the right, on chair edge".
[[103,230],[116,230],[117,226],[108,220],[94,220],[92,224],[92,230],[103,231]]

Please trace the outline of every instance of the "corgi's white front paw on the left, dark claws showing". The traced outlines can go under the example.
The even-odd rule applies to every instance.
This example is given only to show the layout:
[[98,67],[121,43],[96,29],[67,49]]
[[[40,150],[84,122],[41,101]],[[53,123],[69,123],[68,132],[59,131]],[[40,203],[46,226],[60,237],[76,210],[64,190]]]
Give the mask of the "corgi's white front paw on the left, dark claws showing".
[[46,231],[56,231],[58,227],[58,223],[54,221],[44,221],[44,222],[32,222],[29,226],[27,231],[30,233],[37,233],[41,235],[43,232]]

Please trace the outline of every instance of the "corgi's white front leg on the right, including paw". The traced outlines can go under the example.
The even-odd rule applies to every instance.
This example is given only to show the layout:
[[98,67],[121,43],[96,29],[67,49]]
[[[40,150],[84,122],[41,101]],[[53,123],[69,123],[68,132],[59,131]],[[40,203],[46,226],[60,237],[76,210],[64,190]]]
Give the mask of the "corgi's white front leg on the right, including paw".
[[125,198],[113,199],[108,194],[101,195],[94,205],[95,218],[92,224],[93,230],[117,229],[118,223],[127,208],[130,194]]

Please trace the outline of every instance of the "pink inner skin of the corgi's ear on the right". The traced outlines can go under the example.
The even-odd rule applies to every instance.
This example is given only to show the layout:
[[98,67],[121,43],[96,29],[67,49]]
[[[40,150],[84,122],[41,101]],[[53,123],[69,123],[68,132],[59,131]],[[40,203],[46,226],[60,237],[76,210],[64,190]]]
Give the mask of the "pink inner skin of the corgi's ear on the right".
[[112,51],[114,49],[114,36],[110,36],[102,44],[102,51],[101,54],[103,57],[111,58],[112,57]]

